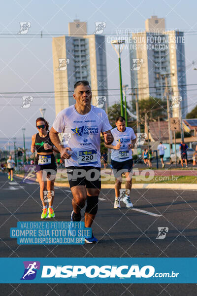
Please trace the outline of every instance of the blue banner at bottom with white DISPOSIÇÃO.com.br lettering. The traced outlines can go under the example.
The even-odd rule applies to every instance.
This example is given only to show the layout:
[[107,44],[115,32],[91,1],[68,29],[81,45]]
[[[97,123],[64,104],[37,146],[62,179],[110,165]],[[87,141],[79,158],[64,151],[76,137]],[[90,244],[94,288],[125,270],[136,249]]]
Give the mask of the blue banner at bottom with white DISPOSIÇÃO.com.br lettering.
[[197,283],[197,258],[0,258],[0,283]]

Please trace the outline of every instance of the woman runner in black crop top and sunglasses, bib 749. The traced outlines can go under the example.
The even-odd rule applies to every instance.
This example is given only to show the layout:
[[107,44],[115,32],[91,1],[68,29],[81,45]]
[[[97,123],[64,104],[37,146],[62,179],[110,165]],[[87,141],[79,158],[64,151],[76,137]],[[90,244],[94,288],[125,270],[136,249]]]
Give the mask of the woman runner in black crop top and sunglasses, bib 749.
[[[39,117],[36,119],[36,128],[38,129],[38,133],[32,136],[31,152],[34,153],[35,151],[37,151],[35,164],[39,165],[39,171],[36,172],[36,176],[40,185],[40,199],[43,206],[41,219],[54,218],[54,182],[57,166],[53,151],[59,152],[59,150],[56,149],[51,142],[51,139],[49,137],[49,124],[43,117]],[[47,175],[46,180],[42,180],[43,170],[46,172]],[[51,174],[54,175],[53,180],[50,180],[52,179],[50,178]],[[47,191],[47,195],[45,194],[45,196],[44,191]],[[48,209],[46,201],[49,202]]]

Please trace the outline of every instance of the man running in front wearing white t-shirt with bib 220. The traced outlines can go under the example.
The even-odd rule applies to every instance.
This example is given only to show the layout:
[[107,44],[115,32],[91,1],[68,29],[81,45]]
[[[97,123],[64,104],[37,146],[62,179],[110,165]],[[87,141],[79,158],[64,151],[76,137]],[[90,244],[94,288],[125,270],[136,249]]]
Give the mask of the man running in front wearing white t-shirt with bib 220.
[[[111,125],[104,110],[91,105],[92,92],[88,81],[74,85],[76,104],[61,111],[50,130],[53,144],[65,159],[70,189],[73,195],[71,221],[81,220],[85,210],[85,227],[91,227],[98,211],[100,192],[100,133],[106,144],[113,142]],[[58,134],[62,133],[62,144]],[[97,243],[92,234],[87,243]]]

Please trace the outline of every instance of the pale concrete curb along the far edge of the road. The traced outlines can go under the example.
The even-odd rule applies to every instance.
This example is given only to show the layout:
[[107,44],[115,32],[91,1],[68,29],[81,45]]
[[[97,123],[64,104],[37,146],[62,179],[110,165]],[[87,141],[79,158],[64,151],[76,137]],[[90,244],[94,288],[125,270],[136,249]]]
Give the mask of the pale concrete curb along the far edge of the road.
[[[15,176],[19,178],[23,178],[22,175],[15,174]],[[38,183],[36,179],[35,182]],[[69,183],[65,182],[64,184],[59,184],[58,182],[54,183],[54,186],[57,187],[66,187],[69,188]],[[123,184],[122,188],[125,188],[125,184]],[[101,189],[114,189],[114,184],[101,184]],[[197,184],[152,184],[152,183],[145,183],[145,184],[132,184],[132,189],[179,189],[179,190],[197,190]]]

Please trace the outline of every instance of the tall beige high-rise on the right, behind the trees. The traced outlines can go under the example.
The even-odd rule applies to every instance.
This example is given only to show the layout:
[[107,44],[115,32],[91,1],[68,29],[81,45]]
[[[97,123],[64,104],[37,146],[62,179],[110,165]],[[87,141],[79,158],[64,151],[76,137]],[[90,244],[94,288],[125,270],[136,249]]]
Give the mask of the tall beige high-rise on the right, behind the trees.
[[[160,74],[171,74],[167,78],[168,94],[170,99],[182,97],[183,116],[187,113],[184,42],[183,32],[166,31],[164,18],[152,16],[145,21],[145,31],[132,35],[130,44],[131,87],[138,88],[139,100],[150,96],[163,99],[165,78]],[[178,108],[172,108],[172,115],[179,117]]]

